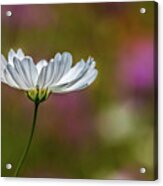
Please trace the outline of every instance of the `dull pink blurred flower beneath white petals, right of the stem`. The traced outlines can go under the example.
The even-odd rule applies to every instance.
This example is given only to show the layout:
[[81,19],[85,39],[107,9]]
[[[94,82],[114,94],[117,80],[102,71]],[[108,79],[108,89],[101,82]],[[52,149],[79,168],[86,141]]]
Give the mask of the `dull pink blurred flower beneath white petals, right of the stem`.
[[62,136],[74,144],[88,142],[88,138],[93,134],[94,125],[87,97],[82,92],[71,93],[55,95],[54,101],[64,125],[61,127]]

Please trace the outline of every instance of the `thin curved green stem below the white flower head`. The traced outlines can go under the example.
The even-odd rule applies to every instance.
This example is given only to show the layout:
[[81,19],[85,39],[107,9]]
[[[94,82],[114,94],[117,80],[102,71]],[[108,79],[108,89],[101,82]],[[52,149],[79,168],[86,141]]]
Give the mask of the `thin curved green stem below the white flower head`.
[[24,149],[24,152],[23,152],[23,154],[22,154],[22,156],[21,156],[21,158],[20,158],[20,160],[18,162],[18,166],[17,166],[15,174],[14,174],[15,177],[18,176],[18,174],[20,172],[20,169],[23,166],[23,163],[24,163],[24,161],[25,161],[25,159],[27,157],[27,154],[28,154],[31,142],[32,142],[32,138],[33,138],[33,134],[34,134],[34,130],[35,130],[35,125],[36,125],[38,106],[39,106],[39,103],[35,103],[35,109],[34,109],[31,133],[30,133],[30,136],[29,136],[29,139],[28,139],[28,143],[27,143],[27,145],[26,145],[26,147]]

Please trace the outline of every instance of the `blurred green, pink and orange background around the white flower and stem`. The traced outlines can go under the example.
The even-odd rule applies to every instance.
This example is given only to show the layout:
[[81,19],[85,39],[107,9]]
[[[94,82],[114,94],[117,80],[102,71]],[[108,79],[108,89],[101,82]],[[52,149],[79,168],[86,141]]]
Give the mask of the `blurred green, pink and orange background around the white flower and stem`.
[[[94,57],[99,71],[87,89],[52,94],[40,105],[20,176],[154,179],[154,7],[154,2],[2,6],[5,57],[10,48],[22,48],[37,63],[69,51],[74,64]],[[27,143],[34,104],[4,84],[1,94],[2,176],[9,177]]]

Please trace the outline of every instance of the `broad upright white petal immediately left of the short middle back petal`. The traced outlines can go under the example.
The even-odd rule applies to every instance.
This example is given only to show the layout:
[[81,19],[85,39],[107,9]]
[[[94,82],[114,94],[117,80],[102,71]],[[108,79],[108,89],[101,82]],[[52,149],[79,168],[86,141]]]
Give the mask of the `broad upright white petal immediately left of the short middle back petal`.
[[31,87],[35,87],[38,79],[38,72],[31,57],[25,57],[21,61],[21,67]]

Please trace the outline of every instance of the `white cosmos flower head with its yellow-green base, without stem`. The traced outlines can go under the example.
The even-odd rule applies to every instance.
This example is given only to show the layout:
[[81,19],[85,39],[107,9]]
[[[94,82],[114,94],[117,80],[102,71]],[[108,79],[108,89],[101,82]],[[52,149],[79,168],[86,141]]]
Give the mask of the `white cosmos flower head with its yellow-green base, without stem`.
[[11,87],[27,92],[33,101],[45,100],[49,93],[68,93],[89,86],[97,77],[96,62],[89,57],[81,59],[72,67],[72,55],[57,53],[49,62],[36,65],[22,49],[11,49],[8,60],[1,55],[1,81]]

